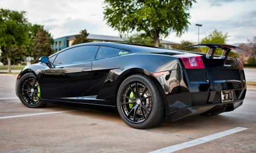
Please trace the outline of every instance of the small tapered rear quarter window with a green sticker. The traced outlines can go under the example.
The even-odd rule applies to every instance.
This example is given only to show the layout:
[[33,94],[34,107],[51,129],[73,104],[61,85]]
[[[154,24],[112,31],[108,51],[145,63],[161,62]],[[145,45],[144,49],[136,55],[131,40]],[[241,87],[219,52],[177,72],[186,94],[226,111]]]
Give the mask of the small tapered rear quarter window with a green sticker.
[[121,56],[121,55],[129,54],[129,53],[130,52],[128,52],[126,50],[101,46],[101,48],[99,49],[97,58]]

